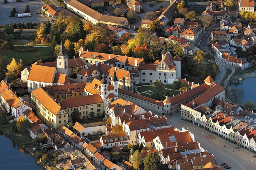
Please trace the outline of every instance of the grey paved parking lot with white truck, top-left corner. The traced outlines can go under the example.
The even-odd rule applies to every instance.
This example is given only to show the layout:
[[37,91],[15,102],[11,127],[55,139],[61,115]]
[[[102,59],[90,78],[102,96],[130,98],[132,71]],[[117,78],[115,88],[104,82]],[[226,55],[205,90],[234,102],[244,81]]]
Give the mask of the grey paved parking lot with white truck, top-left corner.
[[[8,0],[8,4],[4,4],[4,0],[0,0],[1,4],[1,11],[0,11],[0,24],[1,25],[6,25],[9,23],[27,23],[27,22],[32,22],[32,23],[40,23],[47,21],[48,19],[51,19],[51,17],[43,17],[40,14],[36,14],[40,11],[44,4],[41,0],[33,0],[33,1],[28,1],[28,0],[22,0],[22,2],[16,2],[15,0]],[[30,13],[31,17],[24,17],[24,18],[18,18],[18,14],[23,13],[23,10],[25,9],[26,4],[29,5],[30,8]],[[17,12],[15,14],[15,17],[9,17],[10,12],[13,9],[13,7],[16,8]]]

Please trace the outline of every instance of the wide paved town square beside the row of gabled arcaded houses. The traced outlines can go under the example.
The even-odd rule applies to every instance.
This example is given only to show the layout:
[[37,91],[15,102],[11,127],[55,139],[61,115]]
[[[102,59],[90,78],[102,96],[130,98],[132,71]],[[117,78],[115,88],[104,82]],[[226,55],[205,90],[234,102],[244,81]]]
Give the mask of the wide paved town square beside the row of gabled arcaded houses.
[[[217,164],[226,162],[227,165],[231,166],[231,170],[255,169],[256,158],[253,157],[254,154],[252,152],[244,148],[235,149],[235,146],[237,145],[222,139],[213,133],[205,131],[201,127],[195,126],[184,120],[180,120],[180,112],[168,117],[167,120],[171,123],[171,125],[177,127],[178,129],[181,129],[181,126],[188,126],[189,131],[195,134],[195,141],[198,141],[201,144],[201,147],[207,150],[210,154],[214,154]],[[204,133],[204,135],[202,133]],[[211,140],[206,137],[207,135],[213,135],[217,138]],[[226,147],[223,147],[222,145],[225,145]],[[233,149],[234,152],[231,151],[231,149]],[[250,161],[250,159],[253,161]],[[225,169],[223,166],[221,167],[221,169]]]

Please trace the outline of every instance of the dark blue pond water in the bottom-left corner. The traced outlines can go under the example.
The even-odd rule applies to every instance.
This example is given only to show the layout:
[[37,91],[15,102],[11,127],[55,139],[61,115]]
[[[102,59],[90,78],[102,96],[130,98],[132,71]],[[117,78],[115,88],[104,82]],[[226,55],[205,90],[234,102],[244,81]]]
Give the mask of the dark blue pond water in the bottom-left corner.
[[28,152],[0,133],[0,169],[1,170],[42,170]]

